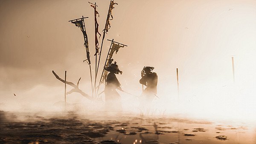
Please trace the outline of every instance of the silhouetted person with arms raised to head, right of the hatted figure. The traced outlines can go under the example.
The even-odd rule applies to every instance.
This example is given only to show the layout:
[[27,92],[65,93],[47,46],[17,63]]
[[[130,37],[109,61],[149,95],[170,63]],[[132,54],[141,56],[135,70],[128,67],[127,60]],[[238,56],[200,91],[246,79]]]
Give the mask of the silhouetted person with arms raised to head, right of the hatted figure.
[[141,71],[140,84],[147,86],[141,97],[140,105],[151,104],[157,94],[157,73],[151,72],[154,67],[145,66]]

